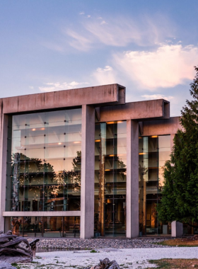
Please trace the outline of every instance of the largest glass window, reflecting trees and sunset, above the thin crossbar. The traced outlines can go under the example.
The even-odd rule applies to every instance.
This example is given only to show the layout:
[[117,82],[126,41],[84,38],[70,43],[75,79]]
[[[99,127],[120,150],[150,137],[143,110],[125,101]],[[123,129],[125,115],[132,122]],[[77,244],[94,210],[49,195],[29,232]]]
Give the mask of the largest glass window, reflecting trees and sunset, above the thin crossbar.
[[6,210],[80,210],[81,108],[13,115],[8,130]]

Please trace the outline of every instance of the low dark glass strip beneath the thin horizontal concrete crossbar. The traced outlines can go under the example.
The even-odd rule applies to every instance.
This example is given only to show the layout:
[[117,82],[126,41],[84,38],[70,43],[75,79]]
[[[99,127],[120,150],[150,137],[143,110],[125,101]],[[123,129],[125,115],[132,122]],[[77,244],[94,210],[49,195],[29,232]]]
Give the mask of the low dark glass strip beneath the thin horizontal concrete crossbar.
[[18,236],[80,236],[80,217],[6,217],[6,223],[7,229]]

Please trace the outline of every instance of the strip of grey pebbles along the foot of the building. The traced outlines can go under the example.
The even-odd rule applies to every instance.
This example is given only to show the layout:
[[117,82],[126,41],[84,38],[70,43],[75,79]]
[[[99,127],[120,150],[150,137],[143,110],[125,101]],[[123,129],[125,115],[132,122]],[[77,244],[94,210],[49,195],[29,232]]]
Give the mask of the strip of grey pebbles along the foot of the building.
[[[33,239],[28,239],[33,241]],[[40,239],[37,248],[86,250],[95,248],[167,248],[156,243],[164,239]]]

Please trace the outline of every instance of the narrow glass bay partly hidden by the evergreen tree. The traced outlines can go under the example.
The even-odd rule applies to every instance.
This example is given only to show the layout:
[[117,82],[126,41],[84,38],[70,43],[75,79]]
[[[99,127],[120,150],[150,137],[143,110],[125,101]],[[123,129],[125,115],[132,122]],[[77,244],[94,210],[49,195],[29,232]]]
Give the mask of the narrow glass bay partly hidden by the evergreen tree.
[[156,205],[161,199],[163,166],[170,159],[170,135],[139,137],[139,231],[170,234],[170,224],[158,222]]

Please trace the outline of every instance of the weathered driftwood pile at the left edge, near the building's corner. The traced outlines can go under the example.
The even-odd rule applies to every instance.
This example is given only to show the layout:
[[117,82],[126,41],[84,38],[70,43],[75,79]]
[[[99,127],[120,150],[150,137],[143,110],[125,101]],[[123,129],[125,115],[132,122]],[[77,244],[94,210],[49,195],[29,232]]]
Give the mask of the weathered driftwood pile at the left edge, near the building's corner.
[[[23,243],[26,248],[20,246]],[[0,231],[0,262],[8,263],[30,263],[33,261],[33,251],[27,239],[12,234],[7,231],[6,234]]]

